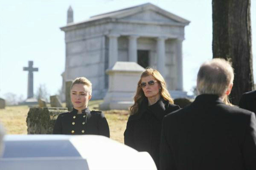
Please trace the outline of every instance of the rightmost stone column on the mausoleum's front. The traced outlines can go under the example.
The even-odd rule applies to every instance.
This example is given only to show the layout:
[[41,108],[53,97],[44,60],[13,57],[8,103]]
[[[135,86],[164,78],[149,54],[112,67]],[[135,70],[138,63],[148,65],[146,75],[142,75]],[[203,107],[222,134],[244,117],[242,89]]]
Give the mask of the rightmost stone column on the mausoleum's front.
[[176,63],[177,63],[176,90],[179,90],[179,91],[183,91],[182,41],[183,39],[176,39]]

